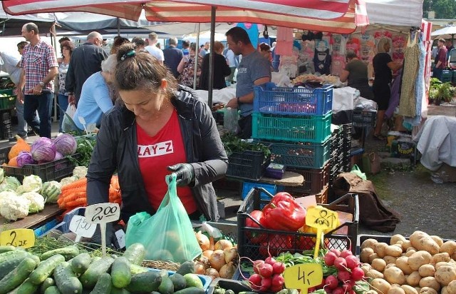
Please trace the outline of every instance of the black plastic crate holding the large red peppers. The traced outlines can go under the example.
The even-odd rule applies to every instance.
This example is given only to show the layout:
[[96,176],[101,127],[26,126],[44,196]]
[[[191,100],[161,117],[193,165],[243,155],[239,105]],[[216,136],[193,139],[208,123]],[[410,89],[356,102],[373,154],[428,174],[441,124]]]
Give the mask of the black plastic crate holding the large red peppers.
[[[253,218],[249,215],[254,210],[259,210],[261,207],[269,203],[267,200],[261,200],[259,191],[264,191],[261,188],[252,189],[245,198],[237,212],[237,228],[238,228],[238,252],[240,256],[251,258],[252,260],[264,259],[268,255],[268,242],[272,240],[274,247],[269,245],[271,255],[278,255],[281,252],[290,251],[302,252],[302,250],[311,250],[315,246],[316,234],[298,233],[284,230],[270,230],[267,228],[250,228],[246,226],[247,218]],[[271,194],[269,196],[272,198]],[[332,211],[343,211],[351,213],[353,219],[343,223],[325,234],[324,246],[326,248],[336,248],[338,250],[349,249],[353,254],[356,253],[356,240],[358,237],[358,195],[346,194],[338,200],[330,204],[322,204],[323,207]],[[255,221],[255,220],[253,220]],[[304,224],[303,224],[304,225]],[[338,230],[346,230],[347,234],[340,234]],[[254,240],[251,236],[260,239]]]

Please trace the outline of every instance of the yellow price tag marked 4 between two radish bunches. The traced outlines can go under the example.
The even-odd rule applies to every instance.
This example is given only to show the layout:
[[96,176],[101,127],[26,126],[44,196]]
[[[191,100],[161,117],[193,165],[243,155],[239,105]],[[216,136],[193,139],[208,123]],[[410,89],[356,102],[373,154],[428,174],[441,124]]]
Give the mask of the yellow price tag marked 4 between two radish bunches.
[[307,293],[307,289],[321,284],[323,268],[319,263],[293,265],[285,269],[284,279],[286,288],[301,289],[301,293]]

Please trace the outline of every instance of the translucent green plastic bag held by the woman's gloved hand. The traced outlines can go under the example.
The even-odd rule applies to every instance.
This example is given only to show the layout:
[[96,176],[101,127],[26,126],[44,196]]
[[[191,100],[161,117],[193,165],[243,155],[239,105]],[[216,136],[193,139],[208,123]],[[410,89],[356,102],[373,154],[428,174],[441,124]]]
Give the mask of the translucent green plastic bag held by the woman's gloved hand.
[[177,197],[176,176],[166,177],[168,191],[155,215],[136,213],[128,220],[125,243],[141,243],[146,260],[170,260],[183,263],[201,255],[192,223]]

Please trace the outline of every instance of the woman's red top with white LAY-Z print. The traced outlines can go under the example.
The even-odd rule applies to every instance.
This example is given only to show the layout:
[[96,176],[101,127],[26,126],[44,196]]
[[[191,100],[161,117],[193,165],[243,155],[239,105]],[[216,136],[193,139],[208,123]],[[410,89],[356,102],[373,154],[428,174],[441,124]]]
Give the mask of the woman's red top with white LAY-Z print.
[[[170,174],[167,166],[187,162],[177,112],[175,110],[172,112],[170,120],[155,136],[147,135],[136,123],[136,136],[142,181],[152,207],[157,210],[167,192],[165,176]],[[188,214],[197,211],[197,205],[189,187],[178,187],[177,196]]]

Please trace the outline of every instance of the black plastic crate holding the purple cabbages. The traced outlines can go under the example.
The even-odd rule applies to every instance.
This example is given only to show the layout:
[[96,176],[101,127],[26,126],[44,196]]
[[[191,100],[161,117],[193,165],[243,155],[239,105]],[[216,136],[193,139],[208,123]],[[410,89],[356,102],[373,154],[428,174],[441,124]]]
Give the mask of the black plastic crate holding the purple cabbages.
[[[8,153],[11,147],[0,149],[0,164],[8,163]],[[73,154],[73,158],[78,158],[79,154]],[[14,166],[2,166],[5,176],[14,176],[21,183],[24,176],[35,175],[39,176],[43,182],[60,181],[62,178],[71,176],[75,164],[69,158],[58,159],[48,163],[26,164],[22,168]]]

